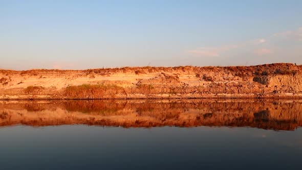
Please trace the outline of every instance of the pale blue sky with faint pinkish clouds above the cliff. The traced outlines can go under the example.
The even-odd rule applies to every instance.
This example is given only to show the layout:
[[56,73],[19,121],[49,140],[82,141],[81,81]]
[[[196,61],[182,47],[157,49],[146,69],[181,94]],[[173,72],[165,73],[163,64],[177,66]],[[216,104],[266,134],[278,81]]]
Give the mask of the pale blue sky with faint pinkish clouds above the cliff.
[[302,65],[302,1],[0,0],[0,69]]

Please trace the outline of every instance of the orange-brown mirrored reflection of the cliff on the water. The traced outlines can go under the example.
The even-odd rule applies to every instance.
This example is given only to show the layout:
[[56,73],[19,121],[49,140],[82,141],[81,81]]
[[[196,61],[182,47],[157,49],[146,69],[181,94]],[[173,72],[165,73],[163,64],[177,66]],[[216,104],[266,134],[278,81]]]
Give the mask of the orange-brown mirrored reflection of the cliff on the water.
[[251,126],[294,130],[302,101],[68,100],[0,103],[0,125]]

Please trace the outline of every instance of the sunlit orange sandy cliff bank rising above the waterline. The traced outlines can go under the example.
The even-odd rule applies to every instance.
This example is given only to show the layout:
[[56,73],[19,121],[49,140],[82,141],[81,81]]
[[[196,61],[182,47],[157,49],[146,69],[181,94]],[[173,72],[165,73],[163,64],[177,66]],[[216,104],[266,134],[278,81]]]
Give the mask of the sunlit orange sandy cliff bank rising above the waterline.
[[1,99],[302,97],[302,66],[0,70]]

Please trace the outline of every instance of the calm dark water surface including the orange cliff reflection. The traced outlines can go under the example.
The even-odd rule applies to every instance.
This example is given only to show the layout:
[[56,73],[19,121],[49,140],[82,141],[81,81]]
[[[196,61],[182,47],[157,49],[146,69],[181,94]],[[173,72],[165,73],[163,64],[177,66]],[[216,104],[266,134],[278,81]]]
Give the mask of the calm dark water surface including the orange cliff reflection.
[[300,169],[302,101],[0,102],[0,169]]

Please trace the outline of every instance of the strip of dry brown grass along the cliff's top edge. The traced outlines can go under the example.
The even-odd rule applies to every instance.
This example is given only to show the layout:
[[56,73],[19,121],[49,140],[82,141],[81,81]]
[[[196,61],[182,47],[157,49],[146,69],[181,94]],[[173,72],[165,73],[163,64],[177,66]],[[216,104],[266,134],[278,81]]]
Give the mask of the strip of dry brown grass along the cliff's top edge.
[[301,70],[302,66],[296,66],[293,63],[272,63],[267,65],[258,66],[234,66],[234,67],[195,67],[195,66],[178,66],[178,67],[123,67],[123,68],[100,68],[100,69],[88,69],[88,70],[47,70],[47,69],[33,69],[24,71],[13,70],[0,70],[2,74],[19,74],[21,76],[40,76],[46,74],[80,74],[80,75],[108,75],[115,73],[135,73],[135,74],[147,74],[155,72],[175,72],[175,71],[190,71],[190,72],[203,72],[203,71],[230,71],[234,75],[240,77],[250,76],[254,72],[262,73],[267,71],[268,74],[273,74],[276,69],[280,70]]

